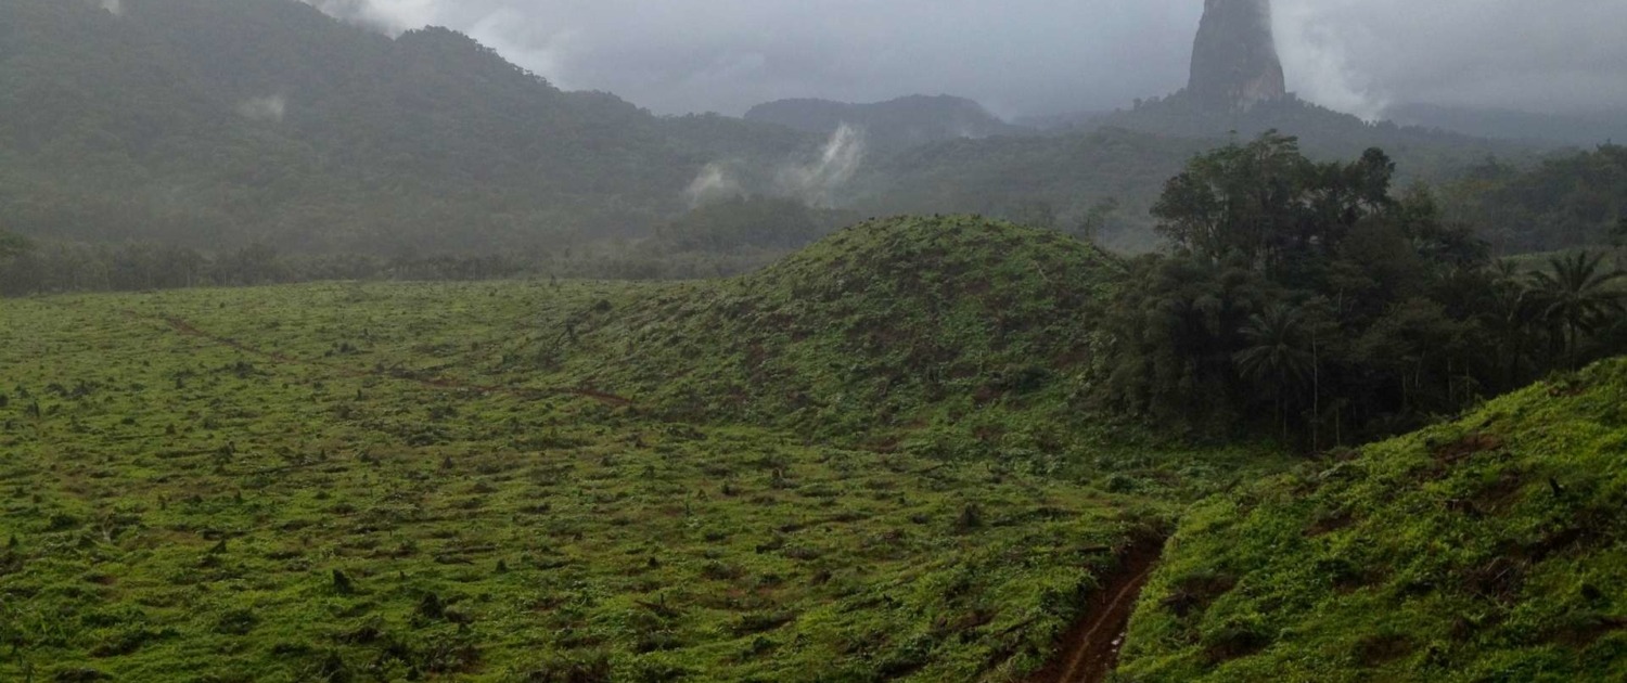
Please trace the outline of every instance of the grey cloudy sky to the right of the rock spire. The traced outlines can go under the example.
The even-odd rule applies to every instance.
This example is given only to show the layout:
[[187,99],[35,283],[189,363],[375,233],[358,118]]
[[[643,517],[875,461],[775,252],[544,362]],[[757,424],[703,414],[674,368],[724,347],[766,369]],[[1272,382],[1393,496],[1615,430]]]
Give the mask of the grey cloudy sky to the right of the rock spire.
[[1355,114],[1398,102],[1627,107],[1622,0],[1277,0],[1290,86]]

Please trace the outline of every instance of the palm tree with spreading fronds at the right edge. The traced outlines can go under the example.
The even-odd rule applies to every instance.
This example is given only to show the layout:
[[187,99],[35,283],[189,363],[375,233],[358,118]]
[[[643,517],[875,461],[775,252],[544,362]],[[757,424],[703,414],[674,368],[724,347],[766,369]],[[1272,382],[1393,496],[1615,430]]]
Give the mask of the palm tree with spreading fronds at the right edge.
[[1580,361],[1581,335],[1598,332],[1616,315],[1627,314],[1627,293],[1611,283],[1627,276],[1624,270],[1603,270],[1604,254],[1580,252],[1555,257],[1551,272],[1531,273],[1531,285],[1541,301],[1542,319],[1562,332],[1572,368]]

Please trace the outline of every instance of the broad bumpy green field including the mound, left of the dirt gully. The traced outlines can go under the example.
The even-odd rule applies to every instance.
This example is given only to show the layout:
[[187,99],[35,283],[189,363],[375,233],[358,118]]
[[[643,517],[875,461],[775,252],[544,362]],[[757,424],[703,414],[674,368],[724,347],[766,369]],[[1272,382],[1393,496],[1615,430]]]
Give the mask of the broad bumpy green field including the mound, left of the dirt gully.
[[[1072,379],[1009,376],[1054,322],[1015,314],[844,403],[913,371],[844,325],[931,275],[778,338],[716,317],[843,276],[797,263],[0,301],[0,678],[1010,681],[1181,501],[1271,467],[1054,421]],[[776,385],[804,411],[740,410]]]

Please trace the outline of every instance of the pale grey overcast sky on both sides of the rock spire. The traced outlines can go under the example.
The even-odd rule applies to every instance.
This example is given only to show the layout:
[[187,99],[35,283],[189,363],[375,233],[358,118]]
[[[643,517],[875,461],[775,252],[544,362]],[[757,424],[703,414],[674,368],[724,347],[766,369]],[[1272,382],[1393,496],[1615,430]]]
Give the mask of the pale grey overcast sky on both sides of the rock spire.
[[[308,2],[390,33],[449,26],[659,114],[914,93],[1007,117],[1111,109],[1186,85],[1202,15],[1202,0]],[[1627,106],[1627,0],[1277,0],[1276,28],[1289,88],[1365,117]]]

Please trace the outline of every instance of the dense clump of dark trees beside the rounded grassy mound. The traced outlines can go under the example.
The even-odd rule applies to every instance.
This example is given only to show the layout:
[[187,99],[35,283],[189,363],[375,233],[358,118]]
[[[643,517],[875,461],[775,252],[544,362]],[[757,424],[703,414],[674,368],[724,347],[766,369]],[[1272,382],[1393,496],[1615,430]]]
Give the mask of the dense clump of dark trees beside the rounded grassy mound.
[[1193,159],[1154,207],[1170,254],[1108,311],[1108,403],[1326,449],[1627,350],[1616,259],[1494,260],[1393,179],[1383,151],[1313,163],[1277,133]]

